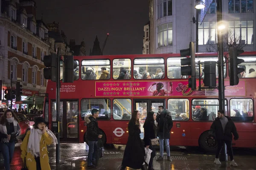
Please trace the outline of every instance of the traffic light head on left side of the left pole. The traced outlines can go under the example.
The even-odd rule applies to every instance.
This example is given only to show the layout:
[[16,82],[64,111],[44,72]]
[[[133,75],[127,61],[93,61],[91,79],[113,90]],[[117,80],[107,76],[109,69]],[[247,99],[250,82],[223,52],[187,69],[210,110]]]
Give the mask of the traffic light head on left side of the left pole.
[[57,81],[57,54],[44,56],[44,78],[51,79],[53,82]]

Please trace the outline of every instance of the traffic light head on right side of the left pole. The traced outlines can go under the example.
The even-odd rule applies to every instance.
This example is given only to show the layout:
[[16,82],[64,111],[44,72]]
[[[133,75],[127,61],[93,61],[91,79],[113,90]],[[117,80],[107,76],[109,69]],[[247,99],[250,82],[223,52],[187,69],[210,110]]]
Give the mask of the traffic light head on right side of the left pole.
[[74,69],[78,66],[73,56],[63,56],[63,78],[62,82],[74,82],[77,74]]

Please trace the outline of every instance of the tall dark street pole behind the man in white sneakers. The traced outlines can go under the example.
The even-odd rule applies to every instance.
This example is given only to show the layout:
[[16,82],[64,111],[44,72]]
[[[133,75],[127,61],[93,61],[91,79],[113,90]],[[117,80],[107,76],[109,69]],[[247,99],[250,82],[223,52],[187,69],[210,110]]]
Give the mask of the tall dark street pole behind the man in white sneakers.
[[[217,28],[222,23],[222,0],[217,1]],[[222,23],[223,24],[223,23]],[[218,101],[219,109],[225,111],[225,86],[224,86],[224,57],[223,57],[223,31],[218,31]],[[224,143],[220,160],[227,161],[227,146]]]

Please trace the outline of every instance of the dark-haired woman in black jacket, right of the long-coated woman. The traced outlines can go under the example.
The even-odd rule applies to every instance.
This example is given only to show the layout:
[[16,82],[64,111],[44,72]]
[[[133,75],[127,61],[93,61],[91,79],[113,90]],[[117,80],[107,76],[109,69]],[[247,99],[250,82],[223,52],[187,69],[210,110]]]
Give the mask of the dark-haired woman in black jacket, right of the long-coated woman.
[[149,111],[147,118],[144,123],[144,142],[145,147],[152,150],[151,157],[148,163],[148,170],[154,170],[153,168],[153,159],[156,156],[156,150],[154,146],[151,145],[150,139],[156,139],[157,138],[157,122],[156,122],[157,116],[153,111]]

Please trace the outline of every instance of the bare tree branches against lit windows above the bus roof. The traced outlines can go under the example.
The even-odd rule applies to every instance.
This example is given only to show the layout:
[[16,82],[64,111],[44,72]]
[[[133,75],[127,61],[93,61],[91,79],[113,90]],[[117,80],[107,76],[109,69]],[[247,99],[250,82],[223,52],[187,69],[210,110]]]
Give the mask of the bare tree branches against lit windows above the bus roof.
[[[245,37],[240,38],[239,34],[234,35],[234,31],[232,29],[229,29],[227,34],[223,35],[223,50],[224,52],[227,52],[230,47],[236,47],[239,50],[242,50],[246,44],[244,42]],[[207,52],[217,52],[218,46],[216,44],[209,43],[207,47],[205,48]]]

